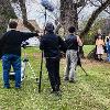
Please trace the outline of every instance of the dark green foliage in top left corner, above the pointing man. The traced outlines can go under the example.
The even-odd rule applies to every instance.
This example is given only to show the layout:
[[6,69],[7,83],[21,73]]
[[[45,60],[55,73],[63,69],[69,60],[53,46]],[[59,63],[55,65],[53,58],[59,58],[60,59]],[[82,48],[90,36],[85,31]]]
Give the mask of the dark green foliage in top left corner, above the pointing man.
[[0,0],[0,34],[6,32],[9,20],[12,18],[15,19],[16,15],[10,0]]

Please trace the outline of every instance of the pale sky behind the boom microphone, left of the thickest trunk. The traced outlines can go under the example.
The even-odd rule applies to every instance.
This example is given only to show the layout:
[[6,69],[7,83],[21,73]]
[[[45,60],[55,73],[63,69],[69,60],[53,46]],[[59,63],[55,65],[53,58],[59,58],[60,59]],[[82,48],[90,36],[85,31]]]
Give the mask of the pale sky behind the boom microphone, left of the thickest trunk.
[[[45,23],[45,9],[44,7],[41,6],[41,0],[26,0],[26,8],[28,8],[28,18],[29,19],[34,19],[36,20],[37,23],[40,23],[41,26],[44,25]],[[50,0],[51,3],[52,3],[52,0]],[[55,20],[55,15],[56,15],[56,11],[57,11],[57,8],[56,7],[57,2],[54,1],[54,12],[50,12],[50,11],[46,11],[47,12],[47,21],[52,21],[54,22]],[[58,18],[58,14],[56,15]]]

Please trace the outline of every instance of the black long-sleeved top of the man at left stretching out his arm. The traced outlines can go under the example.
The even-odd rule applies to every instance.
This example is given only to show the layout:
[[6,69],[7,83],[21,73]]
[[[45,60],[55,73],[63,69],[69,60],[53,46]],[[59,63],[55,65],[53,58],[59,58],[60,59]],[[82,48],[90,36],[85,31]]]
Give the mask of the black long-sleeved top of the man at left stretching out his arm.
[[2,55],[14,54],[21,55],[21,43],[30,37],[37,36],[36,33],[23,33],[15,30],[6,32],[0,38],[0,48]]

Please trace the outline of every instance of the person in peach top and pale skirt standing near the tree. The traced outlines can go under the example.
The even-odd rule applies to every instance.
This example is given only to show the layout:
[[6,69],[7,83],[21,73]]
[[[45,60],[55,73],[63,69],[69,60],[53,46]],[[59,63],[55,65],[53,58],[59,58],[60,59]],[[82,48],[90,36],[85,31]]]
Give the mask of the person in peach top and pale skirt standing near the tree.
[[101,35],[99,35],[98,38],[96,40],[96,46],[97,46],[96,54],[98,55],[98,61],[101,62],[103,54],[103,46],[105,46],[105,42]]

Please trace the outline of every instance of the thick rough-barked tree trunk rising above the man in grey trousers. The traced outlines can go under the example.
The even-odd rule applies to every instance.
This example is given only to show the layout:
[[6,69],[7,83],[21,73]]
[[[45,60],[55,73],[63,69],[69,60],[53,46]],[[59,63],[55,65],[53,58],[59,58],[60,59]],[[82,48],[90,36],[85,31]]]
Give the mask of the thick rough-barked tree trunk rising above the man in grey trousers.
[[61,23],[65,34],[68,33],[68,28],[74,25],[78,29],[77,6],[74,0],[61,0]]

